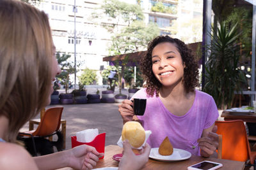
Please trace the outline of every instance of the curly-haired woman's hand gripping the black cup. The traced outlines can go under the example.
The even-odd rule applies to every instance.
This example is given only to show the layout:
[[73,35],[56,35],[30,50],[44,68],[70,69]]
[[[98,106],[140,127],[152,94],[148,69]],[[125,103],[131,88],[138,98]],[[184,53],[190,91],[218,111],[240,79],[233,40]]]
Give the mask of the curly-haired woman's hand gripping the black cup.
[[132,117],[134,116],[133,111],[133,103],[130,100],[125,99],[121,104],[118,105],[118,111],[123,118],[124,124],[125,122],[132,121]]

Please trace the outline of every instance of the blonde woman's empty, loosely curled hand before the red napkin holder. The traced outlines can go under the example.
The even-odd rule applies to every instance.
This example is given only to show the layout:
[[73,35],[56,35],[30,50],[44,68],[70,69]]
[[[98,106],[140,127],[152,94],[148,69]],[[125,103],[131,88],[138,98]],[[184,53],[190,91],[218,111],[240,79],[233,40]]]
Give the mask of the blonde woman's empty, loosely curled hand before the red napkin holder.
[[67,152],[68,167],[74,169],[93,169],[99,158],[104,155],[104,153],[99,153],[94,147],[88,145],[76,146]]

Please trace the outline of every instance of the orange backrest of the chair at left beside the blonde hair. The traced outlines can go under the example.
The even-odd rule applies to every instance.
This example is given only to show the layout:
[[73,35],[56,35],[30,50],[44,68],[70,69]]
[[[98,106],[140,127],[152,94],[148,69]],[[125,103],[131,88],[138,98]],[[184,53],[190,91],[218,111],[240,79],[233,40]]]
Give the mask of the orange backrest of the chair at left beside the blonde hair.
[[48,136],[60,129],[63,107],[49,108],[45,111],[33,136]]

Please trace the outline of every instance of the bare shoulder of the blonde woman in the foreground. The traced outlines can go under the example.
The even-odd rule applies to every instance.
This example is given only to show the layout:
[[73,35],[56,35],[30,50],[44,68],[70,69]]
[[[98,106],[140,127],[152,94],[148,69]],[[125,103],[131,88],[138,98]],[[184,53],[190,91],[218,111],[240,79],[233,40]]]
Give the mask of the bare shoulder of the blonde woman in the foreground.
[[0,143],[1,169],[38,169],[29,153],[19,145]]

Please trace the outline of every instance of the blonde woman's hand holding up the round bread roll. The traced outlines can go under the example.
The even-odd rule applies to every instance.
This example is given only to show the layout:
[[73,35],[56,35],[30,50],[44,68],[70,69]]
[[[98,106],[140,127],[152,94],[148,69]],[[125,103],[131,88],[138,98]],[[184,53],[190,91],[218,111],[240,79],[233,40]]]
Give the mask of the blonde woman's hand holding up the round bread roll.
[[150,153],[150,146],[146,143],[143,149],[140,150],[140,155],[135,155],[132,151],[131,145],[127,139],[125,139],[124,143],[124,155],[120,160],[118,169],[126,170],[126,169],[141,169],[148,162],[148,155]]

